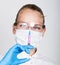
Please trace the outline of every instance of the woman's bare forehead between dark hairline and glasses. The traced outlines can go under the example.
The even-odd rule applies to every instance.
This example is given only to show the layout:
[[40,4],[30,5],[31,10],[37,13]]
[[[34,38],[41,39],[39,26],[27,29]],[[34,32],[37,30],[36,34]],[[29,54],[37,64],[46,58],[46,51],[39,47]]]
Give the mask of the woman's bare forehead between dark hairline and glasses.
[[26,22],[28,24],[35,23],[35,24],[43,24],[43,16],[40,12],[31,10],[31,9],[23,9],[20,11],[18,15],[17,22]]

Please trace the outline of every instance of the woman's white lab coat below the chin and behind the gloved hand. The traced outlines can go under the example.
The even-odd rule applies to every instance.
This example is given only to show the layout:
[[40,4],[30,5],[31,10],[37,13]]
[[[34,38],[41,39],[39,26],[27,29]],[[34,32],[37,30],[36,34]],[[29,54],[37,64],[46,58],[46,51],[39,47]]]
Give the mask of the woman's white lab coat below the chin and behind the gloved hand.
[[25,52],[22,52],[20,55],[17,56],[19,59],[20,58],[30,58],[28,62],[25,62],[20,65],[55,65],[53,62],[43,59],[41,57],[38,57],[37,53],[35,53],[32,57],[27,55]]

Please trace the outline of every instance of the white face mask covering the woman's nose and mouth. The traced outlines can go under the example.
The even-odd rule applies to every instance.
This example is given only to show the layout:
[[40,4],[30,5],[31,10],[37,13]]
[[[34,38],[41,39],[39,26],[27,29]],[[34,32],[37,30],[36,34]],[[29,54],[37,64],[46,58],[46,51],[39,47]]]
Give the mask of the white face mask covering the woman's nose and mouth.
[[16,29],[15,34],[16,43],[21,45],[32,45],[38,47],[42,39],[42,33],[32,30],[19,30]]

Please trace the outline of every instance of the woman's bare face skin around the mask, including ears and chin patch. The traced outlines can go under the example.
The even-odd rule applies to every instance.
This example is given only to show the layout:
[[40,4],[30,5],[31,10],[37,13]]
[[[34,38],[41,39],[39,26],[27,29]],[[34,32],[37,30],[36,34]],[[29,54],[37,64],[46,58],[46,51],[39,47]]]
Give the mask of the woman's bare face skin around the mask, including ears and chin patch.
[[[44,35],[45,29],[42,29],[43,17],[38,11],[31,9],[24,9],[19,13],[17,19],[17,26],[13,26],[13,33],[16,33],[16,29],[31,29],[38,31]],[[30,56],[34,55],[35,49],[30,50]]]

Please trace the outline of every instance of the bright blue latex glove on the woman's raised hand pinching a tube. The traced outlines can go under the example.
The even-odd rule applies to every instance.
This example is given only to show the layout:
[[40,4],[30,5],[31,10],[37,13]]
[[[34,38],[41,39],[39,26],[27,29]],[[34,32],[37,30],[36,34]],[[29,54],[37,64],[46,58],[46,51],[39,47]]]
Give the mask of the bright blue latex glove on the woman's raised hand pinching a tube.
[[18,59],[17,55],[23,51],[29,54],[30,49],[32,48],[33,46],[31,45],[23,45],[23,46],[20,44],[14,45],[12,48],[9,49],[4,58],[1,60],[0,65],[19,65],[29,61],[30,60],[29,58]]

